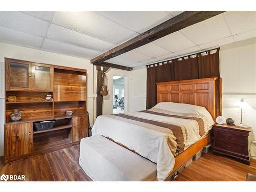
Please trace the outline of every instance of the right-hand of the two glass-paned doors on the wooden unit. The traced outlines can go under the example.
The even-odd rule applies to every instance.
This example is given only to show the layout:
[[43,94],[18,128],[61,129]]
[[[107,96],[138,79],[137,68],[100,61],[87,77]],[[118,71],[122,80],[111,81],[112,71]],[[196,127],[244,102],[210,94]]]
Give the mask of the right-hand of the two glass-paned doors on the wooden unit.
[[53,66],[33,63],[32,89],[37,91],[53,90]]

